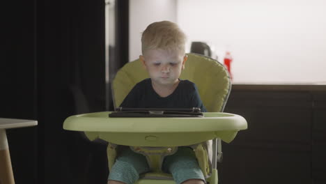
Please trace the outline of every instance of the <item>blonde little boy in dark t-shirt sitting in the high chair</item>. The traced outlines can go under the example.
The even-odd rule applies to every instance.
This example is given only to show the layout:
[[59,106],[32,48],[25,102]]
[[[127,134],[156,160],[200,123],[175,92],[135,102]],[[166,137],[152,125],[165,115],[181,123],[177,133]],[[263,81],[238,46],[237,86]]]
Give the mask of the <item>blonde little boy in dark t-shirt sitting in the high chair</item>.
[[[199,107],[202,112],[206,112],[196,85],[179,79],[187,61],[185,40],[185,34],[173,22],[154,22],[143,31],[143,55],[139,59],[150,78],[136,84],[121,107]],[[162,170],[171,173],[177,184],[205,183],[192,148],[179,147],[175,154],[166,156]],[[133,184],[139,179],[139,174],[148,171],[150,169],[145,156],[134,153],[127,147],[116,159],[108,184]]]

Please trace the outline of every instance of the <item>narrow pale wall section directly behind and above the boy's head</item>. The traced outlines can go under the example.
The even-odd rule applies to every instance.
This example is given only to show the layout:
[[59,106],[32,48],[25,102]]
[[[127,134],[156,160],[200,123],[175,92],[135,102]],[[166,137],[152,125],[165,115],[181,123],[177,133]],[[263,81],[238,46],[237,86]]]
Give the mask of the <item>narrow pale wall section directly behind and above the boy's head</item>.
[[130,0],[129,59],[141,55],[141,33],[148,24],[162,20],[176,22],[175,0]]

